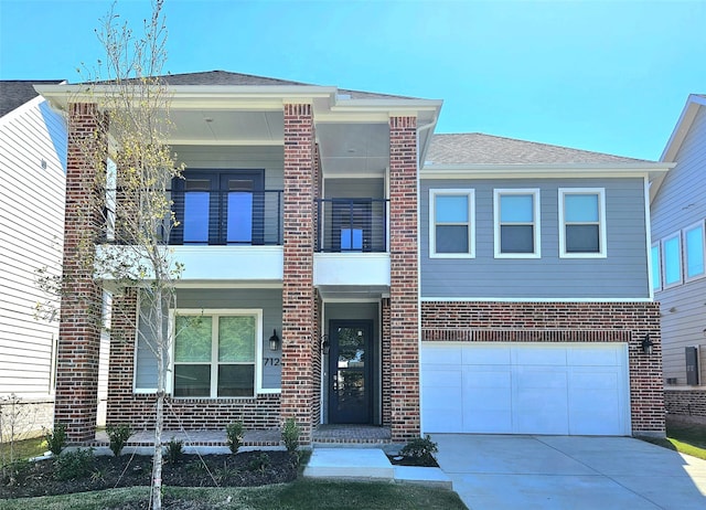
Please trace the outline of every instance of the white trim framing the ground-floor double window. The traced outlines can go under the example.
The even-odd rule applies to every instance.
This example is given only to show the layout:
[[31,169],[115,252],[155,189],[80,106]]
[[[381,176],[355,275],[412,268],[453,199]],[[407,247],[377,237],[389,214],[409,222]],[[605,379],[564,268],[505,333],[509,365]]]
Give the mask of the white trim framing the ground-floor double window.
[[[169,328],[170,334],[174,338],[174,341],[171,342],[170,353],[169,353],[169,373],[170,375],[167,378],[165,390],[168,394],[172,394],[174,387],[174,344],[175,342],[175,323],[176,323],[176,315],[181,316],[217,316],[217,317],[226,317],[226,316],[255,316],[255,393],[253,395],[247,396],[217,396],[213,393],[208,396],[175,396],[174,399],[207,399],[207,400],[247,400],[255,399],[258,394],[261,393],[279,393],[277,389],[263,389],[263,310],[260,308],[178,308],[169,311]],[[217,330],[213,332],[214,337],[217,334]],[[214,351],[217,351],[218,347],[216,342],[211,343],[211,348]],[[217,357],[216,357],[217,358]],[[218,373],[218,363],[214,363],[214,355],[211,357],[211,384],[212,391],[213,387],[217,387],[217,373]],[[215,374],[215,376],[214,376]],[[215,386],[214,386],[215,384]]]

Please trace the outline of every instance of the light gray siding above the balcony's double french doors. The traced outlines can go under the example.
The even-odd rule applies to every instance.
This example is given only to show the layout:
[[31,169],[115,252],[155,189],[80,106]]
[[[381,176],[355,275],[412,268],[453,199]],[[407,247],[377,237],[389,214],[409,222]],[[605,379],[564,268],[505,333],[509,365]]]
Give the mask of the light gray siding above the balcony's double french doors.
[[265,169],[265,189],[284,189],[284,147],[248,146],[174,146],[176,160],[188,170],[204,169]]

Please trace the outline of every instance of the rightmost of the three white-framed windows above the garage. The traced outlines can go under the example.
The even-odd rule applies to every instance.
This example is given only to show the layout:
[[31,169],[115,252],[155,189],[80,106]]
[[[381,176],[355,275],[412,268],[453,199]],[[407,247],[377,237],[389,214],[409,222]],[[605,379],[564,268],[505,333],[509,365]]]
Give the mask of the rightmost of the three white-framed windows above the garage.
[[606,256],[606,191],[559,189],[559,256]]

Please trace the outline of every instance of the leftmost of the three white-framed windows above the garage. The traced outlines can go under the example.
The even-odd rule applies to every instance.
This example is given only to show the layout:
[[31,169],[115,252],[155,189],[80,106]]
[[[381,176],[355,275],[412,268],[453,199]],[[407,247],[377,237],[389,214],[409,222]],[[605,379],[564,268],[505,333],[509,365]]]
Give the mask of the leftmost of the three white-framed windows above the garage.
[[475,256],[473,190],[429,190],[429,256]]

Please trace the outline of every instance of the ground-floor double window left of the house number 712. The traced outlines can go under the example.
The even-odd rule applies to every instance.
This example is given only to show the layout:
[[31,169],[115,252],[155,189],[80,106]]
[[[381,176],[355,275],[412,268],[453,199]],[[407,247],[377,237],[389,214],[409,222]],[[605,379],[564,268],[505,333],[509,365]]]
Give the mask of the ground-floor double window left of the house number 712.
[[178,311],[175,397],[252,397],[258,381],[259,310]]

